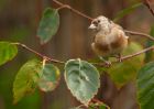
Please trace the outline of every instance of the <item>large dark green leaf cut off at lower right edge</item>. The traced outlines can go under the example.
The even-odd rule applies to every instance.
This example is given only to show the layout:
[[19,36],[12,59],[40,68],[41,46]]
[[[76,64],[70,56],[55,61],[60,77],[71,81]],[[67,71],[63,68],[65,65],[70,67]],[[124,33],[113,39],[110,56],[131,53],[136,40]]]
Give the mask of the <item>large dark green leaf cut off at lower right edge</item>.
[[138,100],[141,109],[154,109],[154,62],[140,69],[136,84]]

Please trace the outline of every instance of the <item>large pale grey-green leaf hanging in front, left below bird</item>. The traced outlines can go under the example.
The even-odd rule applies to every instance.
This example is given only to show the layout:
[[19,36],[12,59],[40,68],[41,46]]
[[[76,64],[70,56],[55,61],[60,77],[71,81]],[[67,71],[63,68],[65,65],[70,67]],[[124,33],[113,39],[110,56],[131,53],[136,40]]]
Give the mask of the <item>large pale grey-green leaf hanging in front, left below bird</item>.
[[70,59],[65,65],[65,80],[72,94],[88,105],[100,86],[100,76],[95,66],[80,59]]

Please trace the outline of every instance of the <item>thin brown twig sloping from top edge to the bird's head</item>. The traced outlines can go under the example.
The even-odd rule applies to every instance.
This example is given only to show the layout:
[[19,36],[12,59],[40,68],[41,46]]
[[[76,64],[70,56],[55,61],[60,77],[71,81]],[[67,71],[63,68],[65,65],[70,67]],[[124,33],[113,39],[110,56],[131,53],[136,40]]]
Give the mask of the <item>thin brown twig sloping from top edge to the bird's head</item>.
[[64,3],[62,3],[62,2],[59,2],[59,1],[57,1],[57,0],[53,0],[53,1],[54,1],[55,3],[57,3],[58,6],[61,6],[61,7],[65,6],[65,8],[72,10],[73,12],[77,13],[77,14],[80,15],[80,17],[84,17],[84,18],[90,20],[90,21],[94,20],[92,18],[90,18],[90,17],[88,17],[88,15],[86,15],[86,14],[79,12],[78,10],[73,9],[73,8],[72,8],[70,6],[68,6],[68,4],[64,4]]

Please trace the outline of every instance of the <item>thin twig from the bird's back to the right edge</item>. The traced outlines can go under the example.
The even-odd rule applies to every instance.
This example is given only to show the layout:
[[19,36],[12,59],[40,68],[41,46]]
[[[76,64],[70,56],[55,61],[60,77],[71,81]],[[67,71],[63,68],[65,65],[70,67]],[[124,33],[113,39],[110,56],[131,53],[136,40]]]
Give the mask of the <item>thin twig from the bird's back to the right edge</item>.
[[147,37],[152,41],[154,41],[154,37],[148,35],[148,34],[145,34],[145,33],[140,33],[140,32],[133,32],[133,31],[128,31],[128,30],[124,30],[125,33],[129,33],[131,35],[140,35],[140,36],[144,36],[144,37]]

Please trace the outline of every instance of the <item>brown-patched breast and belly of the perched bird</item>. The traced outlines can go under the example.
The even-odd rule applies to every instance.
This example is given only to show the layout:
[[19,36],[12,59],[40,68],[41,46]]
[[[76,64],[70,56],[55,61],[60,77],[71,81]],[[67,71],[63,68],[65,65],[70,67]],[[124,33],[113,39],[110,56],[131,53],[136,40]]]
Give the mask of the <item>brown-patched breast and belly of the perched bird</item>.
[[128,39],[123,35],[97,35],[92,44],[92,50],[101,56],[118,54],[128,45]]

